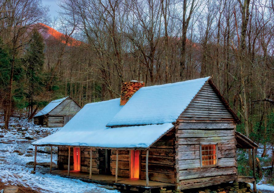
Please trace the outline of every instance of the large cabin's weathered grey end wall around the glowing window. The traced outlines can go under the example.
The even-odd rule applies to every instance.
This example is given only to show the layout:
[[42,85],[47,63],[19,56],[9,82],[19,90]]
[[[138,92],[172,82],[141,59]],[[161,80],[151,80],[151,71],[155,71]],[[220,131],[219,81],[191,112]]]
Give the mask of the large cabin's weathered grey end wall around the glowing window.
[[[176,173],[181,189],[236,179],[234,119],[207,83],[179,117],[176,126]],[[218,143],[217,167],[202,167],[200,143]]]

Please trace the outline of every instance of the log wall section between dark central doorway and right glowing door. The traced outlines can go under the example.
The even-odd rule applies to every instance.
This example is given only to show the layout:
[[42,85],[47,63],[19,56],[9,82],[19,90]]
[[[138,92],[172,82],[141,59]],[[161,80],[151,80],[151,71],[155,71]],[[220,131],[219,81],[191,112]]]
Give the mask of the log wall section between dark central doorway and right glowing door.
[[[118,150],[118,176],[129,178],[129,150]],[[111,151],[110,169],[115,175],[116,169],[116,150]]]

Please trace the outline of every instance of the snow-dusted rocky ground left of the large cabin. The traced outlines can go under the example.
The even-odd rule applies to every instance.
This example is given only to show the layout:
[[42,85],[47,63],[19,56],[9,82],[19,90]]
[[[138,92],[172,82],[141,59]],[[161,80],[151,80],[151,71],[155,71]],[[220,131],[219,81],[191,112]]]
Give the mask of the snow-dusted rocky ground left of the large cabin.
[[[0,123],[2,127],[3,123]],[[98,184],[85,183],[78,179],[68,179],[50,174],[41,174],[37,166],[36,174],[30,174],[33,166],[26,165],[27,162],[34,161],[34,147],[30,145],[34,140],[27,140],[25,137],[40,139],[60,128],[45,128],[33,125],[33,121],[25,118],[11,118],[9,131],[0,133],[0,181],[5,185],[22,185],[31,187],[34,190],[53,192],[79,192],[79,193],[115,193],[118,191],[107,190],[99,187]],[[1,129],[0,129],[1,131]],[[38,150],[48,151],[49,149],[39,147]],[[14,152],[15,151],[15,152]],[[19,155],[21,152],[23,155]],[[38,162],[50,162],[50,154],[37,152]],[[57,154],[53,154],[53,162],[57,163]],[[39,189],[41,188],[42,191]]]

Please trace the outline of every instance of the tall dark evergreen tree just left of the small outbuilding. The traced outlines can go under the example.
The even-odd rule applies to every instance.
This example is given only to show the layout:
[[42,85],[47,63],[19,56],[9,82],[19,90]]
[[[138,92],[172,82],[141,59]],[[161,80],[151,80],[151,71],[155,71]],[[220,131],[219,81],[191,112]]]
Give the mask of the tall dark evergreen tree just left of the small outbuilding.
[[43,76],[42,69],[45,60],[44,54],[45,44],[43,37],[37,30],[33,30],[31,42],[26,52],[26,78],[27,78],[27,92],[26,98],[28,99],[31,113],[33,112],[33,105],[37,102],[34,97],[39,95],[43,90]]

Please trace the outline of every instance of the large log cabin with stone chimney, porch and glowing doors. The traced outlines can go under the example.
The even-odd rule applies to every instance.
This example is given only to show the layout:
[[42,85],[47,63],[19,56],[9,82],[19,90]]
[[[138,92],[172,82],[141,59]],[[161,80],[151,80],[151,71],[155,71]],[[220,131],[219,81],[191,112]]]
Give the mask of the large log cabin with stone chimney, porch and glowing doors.
[[121,190],[180,192],[239,181],[256,188],[255,171],[237,174],[237,148],[254,155],[258,147],[236,132],[240,122],[210,77],[150,87],[131,81],[121,98],[86,104],[33,145],[58,147],[58,167],[47,172]]

